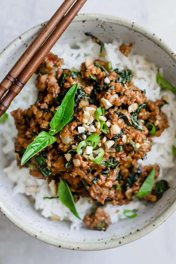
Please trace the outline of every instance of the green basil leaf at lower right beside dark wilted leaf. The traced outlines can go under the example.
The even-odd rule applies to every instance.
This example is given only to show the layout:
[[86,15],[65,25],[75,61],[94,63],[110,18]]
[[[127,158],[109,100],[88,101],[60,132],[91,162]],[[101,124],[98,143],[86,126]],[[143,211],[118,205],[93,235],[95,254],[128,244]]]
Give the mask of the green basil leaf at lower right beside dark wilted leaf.
[[155,183],[154,176],[155,176],[155,167],[152,168],[149,175],[147,176],[147,178],[145,179],[145,181],[141,185],[141,188],[134,195],[134,197],[142,198],[144,196],[147,196],[150,193],[150,191],[152,190],[153,185]]

